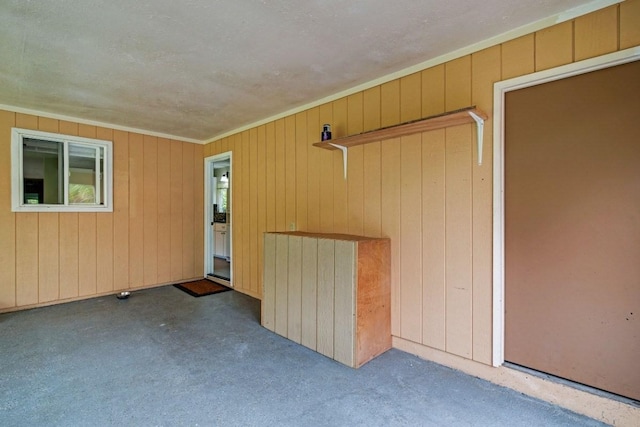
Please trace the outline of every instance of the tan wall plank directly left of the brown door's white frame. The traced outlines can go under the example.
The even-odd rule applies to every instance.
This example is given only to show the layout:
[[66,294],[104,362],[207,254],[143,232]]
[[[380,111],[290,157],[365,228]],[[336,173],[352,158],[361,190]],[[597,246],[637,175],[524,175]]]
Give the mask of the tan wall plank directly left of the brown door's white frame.
[[[491,111],[493,83],[500,80],[500,48],[492,47],[472,56],[472,103]],[[484,128],[483,164],[473,151],[473,359],[491,364],[493,306],[493,128]],[[475,145],[475,144],[474,144]],[[474,147],[475,148],[475,147]]]

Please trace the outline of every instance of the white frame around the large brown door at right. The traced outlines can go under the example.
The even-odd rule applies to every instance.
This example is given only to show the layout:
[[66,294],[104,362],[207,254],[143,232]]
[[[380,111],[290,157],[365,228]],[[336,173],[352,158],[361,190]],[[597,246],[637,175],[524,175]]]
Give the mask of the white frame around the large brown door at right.
[[[493,87],[493,366],[504,363],[504,97],[507,92],[640,60],[640,47],[495,83]],[[544,123],[540,124],[544,126]]]

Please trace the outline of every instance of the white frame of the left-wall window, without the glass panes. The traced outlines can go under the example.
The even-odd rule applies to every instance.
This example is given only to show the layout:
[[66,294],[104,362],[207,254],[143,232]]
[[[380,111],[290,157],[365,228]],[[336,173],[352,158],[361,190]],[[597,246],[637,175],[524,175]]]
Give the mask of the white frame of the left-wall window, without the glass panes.
[[[96,187],[96,196],[104,191],[104,203],[70,204],[69,203],[69,162],[65,162],[63,187],[63,203],[61,204],[26,204],[24,203],[24,162],[23,140],[34,138],[63,144],[64,158],[69,156],[69,144],[84,145],[96,149],[104,149],[103,176],[99,177],[100,185]],[[96,160],[96,171],[99,171]],[[98,172],[96,172],[98,173]],[[107,140],[84,138],[80,136],[62,135],[29,129],[11,129],[11,210],[13,212],[113,212],[113,143]]]

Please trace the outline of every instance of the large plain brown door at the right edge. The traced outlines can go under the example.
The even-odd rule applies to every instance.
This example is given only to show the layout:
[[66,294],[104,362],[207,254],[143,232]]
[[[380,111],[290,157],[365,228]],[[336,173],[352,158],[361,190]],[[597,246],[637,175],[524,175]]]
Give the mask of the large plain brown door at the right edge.
[[505,360],[640,400],[640,61],[505,106]]

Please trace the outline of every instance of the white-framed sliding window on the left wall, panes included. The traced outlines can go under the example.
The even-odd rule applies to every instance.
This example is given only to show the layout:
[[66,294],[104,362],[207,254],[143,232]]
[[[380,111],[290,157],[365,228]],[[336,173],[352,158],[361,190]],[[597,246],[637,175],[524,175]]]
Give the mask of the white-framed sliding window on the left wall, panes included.
[[111,141],[13,128],[14,212],[112,212]]

